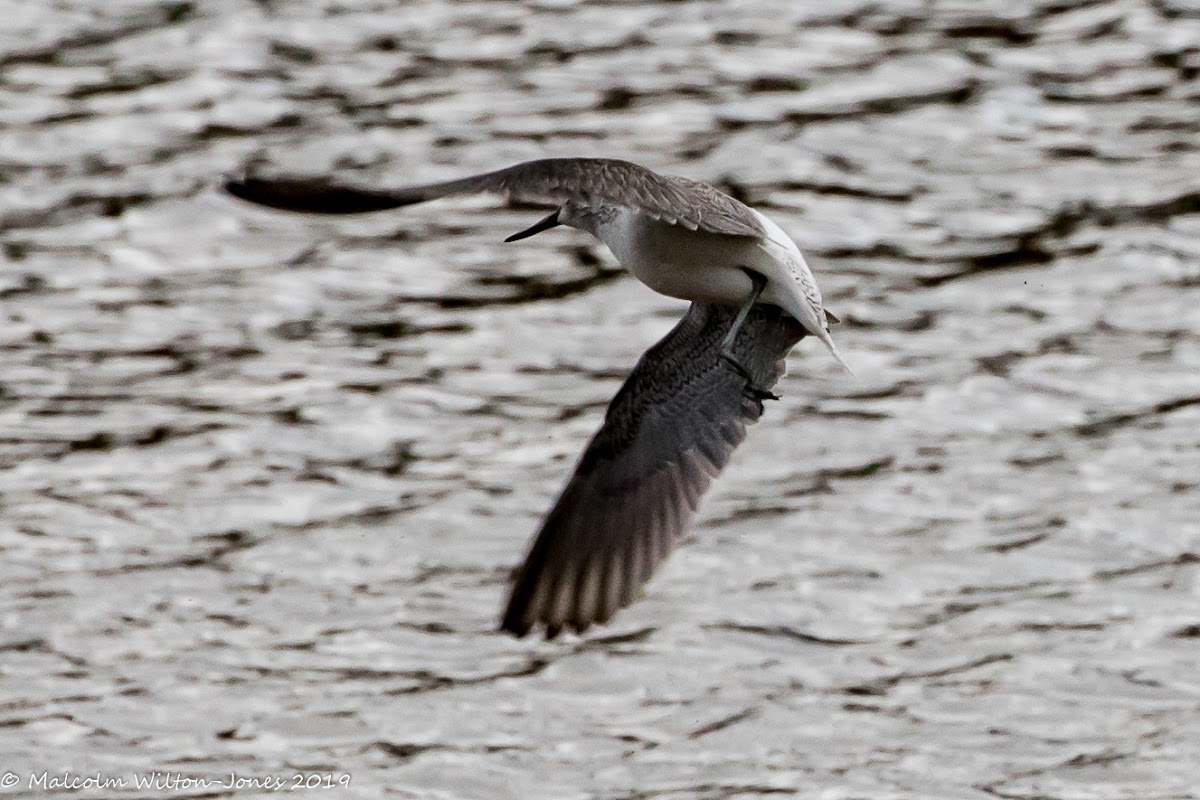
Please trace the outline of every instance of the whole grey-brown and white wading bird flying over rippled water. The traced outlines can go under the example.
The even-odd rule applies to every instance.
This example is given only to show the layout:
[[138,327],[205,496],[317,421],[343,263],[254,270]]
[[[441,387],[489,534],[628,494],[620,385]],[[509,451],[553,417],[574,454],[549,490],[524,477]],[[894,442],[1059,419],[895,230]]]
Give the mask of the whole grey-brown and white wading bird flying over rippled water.
[[604,426],[516,571],[502,630],[547,638],[629,606],[686,529],[701,495],[762,415],[804,336],[846,368],[836,318],[799,248],[766,216],[698,181],[628,161],[544,158],[458,180],[373,190],[328,178],[228,178],[234,197],[287,211],[347,215],[491,193],[553,211],[509,236],[557,225],[600,239],[642,283],[691,301],[638,360]]

